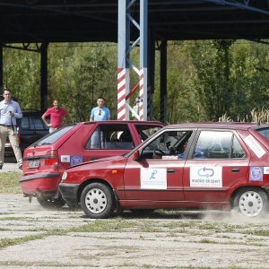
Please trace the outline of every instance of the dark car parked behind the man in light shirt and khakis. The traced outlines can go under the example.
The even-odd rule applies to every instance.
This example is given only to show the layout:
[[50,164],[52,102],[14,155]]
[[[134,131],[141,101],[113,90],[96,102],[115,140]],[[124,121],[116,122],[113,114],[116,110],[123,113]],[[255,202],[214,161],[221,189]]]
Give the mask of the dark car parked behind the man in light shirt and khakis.
[[[24,110],[22,111],[22,118],[17,119],[18,140],[22,154],[30,144],[48,134],[48,126],[41,119],[42,114],[39,110]],[[4,145],[4,155],[14,156],[8,138]]]

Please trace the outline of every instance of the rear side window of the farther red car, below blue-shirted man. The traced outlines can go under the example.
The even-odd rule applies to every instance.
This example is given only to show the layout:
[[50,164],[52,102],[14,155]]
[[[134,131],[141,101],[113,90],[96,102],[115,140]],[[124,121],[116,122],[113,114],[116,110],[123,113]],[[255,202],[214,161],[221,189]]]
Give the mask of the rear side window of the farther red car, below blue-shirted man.
[[91,134],[85,148],[131,150],[134,148],[134,142],[127,125],[100,125]]

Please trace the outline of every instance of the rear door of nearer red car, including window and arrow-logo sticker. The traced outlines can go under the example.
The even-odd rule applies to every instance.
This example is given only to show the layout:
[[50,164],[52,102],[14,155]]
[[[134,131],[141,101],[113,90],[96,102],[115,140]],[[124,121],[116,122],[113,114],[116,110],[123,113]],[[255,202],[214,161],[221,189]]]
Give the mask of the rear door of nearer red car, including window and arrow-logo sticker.
[[246,180],[247,148],[232,130],[201,130],[189,153],[183,175],[187,201],[221,202],[239,181]]

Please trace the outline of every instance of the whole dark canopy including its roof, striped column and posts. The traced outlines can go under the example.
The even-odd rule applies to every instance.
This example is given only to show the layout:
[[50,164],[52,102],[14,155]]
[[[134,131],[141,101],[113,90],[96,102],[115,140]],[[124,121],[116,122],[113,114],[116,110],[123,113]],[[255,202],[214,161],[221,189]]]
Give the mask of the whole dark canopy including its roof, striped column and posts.
[[[140,67],[136,68],[140,77],[136,88],[140,89],[139,97],[143,100],[140,111],[143,112],[137,118],[147,119],[154,88],[152,51],[156,40],[161,40],[161,59],[165,63],[167,40],[268,39],[268,26],[269,0],[0,0],[0,46],[22,43],[23,48],[28,48],[30,43],[36,43],[40,48],[43,103],[47,95],[44,76],[48,43],[112,41],[120,44],[119,57],[126,62],[118,66],[118,84],[121,86],[124,77],[127,85],[120,94],[117,91],[117,100],[122,105],[117,109],[121,119],[128,118],[127,110],[132,110],[127,102],[129,67],[132,67],[128,59],[134,45],[143,47]],[[121,39],[123,34],[125,37]],[[165,81],[163,65],[161,77]],[[161,102],[165,105],[166,83],[161,84]],[[163,106],[161,109],[164,110]]]

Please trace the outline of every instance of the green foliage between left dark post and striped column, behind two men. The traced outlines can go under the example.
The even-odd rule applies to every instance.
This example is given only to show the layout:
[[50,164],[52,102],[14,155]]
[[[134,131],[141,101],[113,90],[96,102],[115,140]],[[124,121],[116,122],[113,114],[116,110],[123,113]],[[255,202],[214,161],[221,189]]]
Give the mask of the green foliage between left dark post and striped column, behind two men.
[[[54,57],[57,53],[62,56]],[[52,47],[49,68],[55,72],[49,76],[50,101],[60,99],[75,122],[89,120],[91,108],[96,106],[100,95],[107,100],[108,107],[116,111],[113,109],[117,105],[116,53],[115,47],[107,43]],[[112,113],[113,117],[117,115]]]

